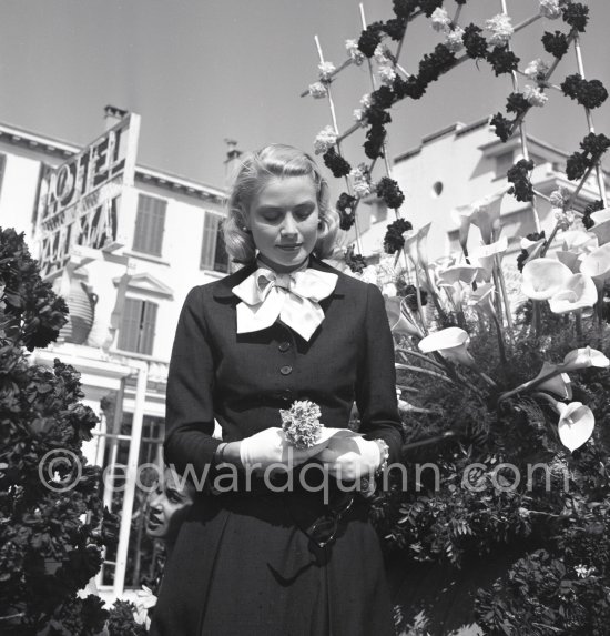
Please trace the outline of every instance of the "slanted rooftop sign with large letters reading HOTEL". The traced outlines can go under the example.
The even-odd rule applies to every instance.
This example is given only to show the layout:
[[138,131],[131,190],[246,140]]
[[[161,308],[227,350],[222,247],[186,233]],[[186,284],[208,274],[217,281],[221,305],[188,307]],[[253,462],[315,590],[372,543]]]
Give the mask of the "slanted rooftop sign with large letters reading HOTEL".
[[122,245],[121,195],[134,182],[139,132],[140,115],[129,113],[43,178],[37,226],[43,279],[61,275],[79,248]]

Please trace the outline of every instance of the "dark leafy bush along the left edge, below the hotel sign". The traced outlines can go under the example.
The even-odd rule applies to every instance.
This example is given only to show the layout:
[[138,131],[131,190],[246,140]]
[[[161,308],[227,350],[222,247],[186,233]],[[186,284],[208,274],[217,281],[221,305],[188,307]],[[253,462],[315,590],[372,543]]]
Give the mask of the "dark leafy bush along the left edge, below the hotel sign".
[[108,612],[77,596],[116,535],[81,452],[96,417],[73,367],[30,365],[23,351],[55,340],[67,307],[12,230],[0,232],[0,630],[98,634]]

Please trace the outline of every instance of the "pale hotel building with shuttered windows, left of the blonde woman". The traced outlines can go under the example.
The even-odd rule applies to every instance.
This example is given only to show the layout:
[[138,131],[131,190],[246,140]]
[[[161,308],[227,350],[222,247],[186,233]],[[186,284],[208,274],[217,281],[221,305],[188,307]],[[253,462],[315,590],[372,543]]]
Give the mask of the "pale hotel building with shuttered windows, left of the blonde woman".
[[[227,273],[228,259],[221,236],[225,191],[139,165],[138,115],[115,109],[106,115],[106,132],[84,149],[0,124],[0,225],[24,232],[70,309],[59,341],[30,360],[72,364],[83,402],[100,416],[83,452],[104,467],[104,502],[122,524],[98,587],[120,596],[149,565],[141,549],[146,493],[135,482],[144,479],[139,466],[163,465],[179,313],[194,285]],[[128,128],[132,172],[116,176],[112,171],[125,171],[119,145]]]

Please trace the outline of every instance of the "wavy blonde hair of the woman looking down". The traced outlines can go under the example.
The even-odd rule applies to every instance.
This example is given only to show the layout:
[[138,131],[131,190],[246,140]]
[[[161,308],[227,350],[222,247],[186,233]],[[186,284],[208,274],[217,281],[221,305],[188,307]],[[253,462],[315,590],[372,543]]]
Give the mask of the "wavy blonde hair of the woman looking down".
[[231,195],[226,203],[227,214],[223,223],[226,252],[238,263],[251,263],[256,258],[256,245],[246,230],[250,205],[254,196],[273,178],[309,175],[316,186],[321,232],[313,253],[325,259],[331,256],[338,230],[338,214],[331,208],[331,193],[326,179],[315,161],[305,152],[274,143],[242,160]]

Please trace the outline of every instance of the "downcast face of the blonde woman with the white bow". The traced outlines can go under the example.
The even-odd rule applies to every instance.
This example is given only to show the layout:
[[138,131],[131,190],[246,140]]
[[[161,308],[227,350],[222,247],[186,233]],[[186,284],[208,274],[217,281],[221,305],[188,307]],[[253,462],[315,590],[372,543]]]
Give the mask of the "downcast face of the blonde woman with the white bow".
[[278,272],[298,267],[319,235],[313,179],[273,176],[252,200],[247,223],[263,261]]

